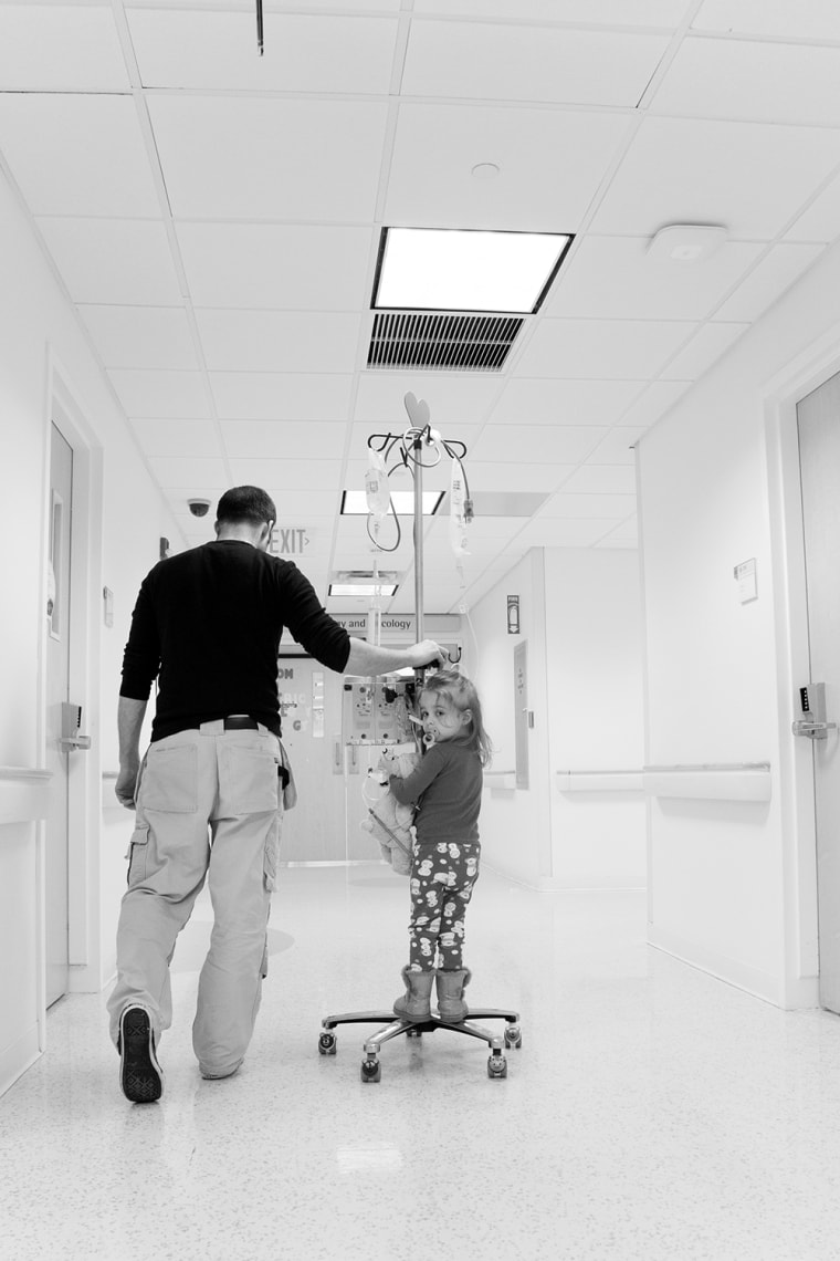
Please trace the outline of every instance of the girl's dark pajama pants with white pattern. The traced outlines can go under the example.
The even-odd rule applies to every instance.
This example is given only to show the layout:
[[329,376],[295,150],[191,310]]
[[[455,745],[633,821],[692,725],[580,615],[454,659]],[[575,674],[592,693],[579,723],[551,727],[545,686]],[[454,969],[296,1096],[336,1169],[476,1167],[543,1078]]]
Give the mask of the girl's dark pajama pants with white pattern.
[[414,845],[408,962],[413,972],[463,967],[463,919],[479,879],[477,841]]

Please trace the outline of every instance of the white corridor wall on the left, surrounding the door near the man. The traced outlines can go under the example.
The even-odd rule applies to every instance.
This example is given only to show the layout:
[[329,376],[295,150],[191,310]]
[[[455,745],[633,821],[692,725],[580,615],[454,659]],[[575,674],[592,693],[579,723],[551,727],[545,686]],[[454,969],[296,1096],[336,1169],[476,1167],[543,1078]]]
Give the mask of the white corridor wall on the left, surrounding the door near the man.
[[[19,208],[0,177],[0,1092],[43,1049],[42,656],[45,518],[53,388],[72,419],[78,467],[91,489],[81,575],[87,634],[77,653],[79,700],[93,738],[74,765],[72,821],[72,989],[98,990],[113,967],[113,923],[131,817],[102,827],[101,773],[116,769],[120,661],[137,586],[175,523],[152,487],[107,380]],[[102,586],[115,591],[115,624],[102,624]],[[77,680],[78,681],[78,680]],[[81,813],[79,813],[81,811]],[[107,845],[103,852],[102,846]],[[117,875],[117,869],[120,873]],[[23,962],[21,962],[23,961]]]

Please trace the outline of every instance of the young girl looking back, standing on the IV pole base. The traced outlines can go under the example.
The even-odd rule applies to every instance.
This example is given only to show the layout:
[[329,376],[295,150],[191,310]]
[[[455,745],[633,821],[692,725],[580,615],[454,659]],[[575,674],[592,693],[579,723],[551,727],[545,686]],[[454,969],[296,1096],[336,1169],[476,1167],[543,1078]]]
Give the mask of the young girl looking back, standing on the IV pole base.
[[404,779],[389,777],[397,801],[418,807],[406,994],[394,1002],[394,1014],[428,1020],[437,979],[441,1020],[458,1024],[467,1015],[463,987],[471,973],[462,960],[463,919],[479,879],[481,768],[490,762],[491,745],[475,685],[457,671],[442,670],[423,682],[419,718],[427,745],[419,767]]

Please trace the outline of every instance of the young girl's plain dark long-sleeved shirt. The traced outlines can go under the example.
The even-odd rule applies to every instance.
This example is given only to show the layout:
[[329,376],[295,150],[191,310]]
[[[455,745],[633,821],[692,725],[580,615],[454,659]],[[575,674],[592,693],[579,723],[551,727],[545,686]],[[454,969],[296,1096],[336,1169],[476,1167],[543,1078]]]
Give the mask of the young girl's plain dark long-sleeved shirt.
[[390,776],[388,783],[403,806],[418,803],[419,845],[479,840],[482,773],[472,749],[457,740],[433,744],[417,770],[404,779]]

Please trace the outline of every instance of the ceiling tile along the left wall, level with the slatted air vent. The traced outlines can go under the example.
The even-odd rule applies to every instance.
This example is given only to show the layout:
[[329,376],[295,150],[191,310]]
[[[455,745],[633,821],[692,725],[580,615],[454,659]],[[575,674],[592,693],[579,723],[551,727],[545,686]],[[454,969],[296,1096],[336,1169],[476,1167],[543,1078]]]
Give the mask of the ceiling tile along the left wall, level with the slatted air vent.
[[181,308],[79,306],[79,314],[106,368],[198,368]]

